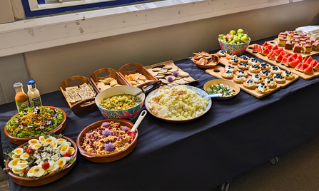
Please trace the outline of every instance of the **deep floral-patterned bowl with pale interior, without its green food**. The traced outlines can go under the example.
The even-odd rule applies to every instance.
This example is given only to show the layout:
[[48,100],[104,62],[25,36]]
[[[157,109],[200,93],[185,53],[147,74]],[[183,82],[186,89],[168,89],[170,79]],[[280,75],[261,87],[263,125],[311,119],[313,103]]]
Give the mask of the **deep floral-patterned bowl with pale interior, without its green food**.
[[140,104],[136,105],[133,108],[128,108],[126,110],[107,110],[105,108],[101,108],[100,103],[103,100],[103,98],[108,98],[108,97],[116,96],[120,94],[134,95],[140,91],[141,91],[140,88],[137,88],[134,86],[114,86],[98,93],[98,95],[95,98],[95,103],[98,106],[98,110],[101,111],[102,115],[106,119],[134,120],[138,116],[138,113],[140,113],[141,108],[143,107],[143,103],[145,100],[144,93],[141,93],[140,95],[138,95],[138,97],[142,99],[142,102]]

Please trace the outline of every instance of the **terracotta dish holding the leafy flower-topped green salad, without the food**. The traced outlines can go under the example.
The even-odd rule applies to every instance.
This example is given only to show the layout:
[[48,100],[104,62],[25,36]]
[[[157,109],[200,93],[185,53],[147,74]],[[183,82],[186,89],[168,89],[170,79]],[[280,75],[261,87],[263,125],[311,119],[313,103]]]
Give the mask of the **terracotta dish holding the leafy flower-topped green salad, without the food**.
[[[65,111],[62,110],[61,108],[56,108],[54,106],[44,106],[44,108],[59,109],[59,110],[62,111],[62,113],[64,115],[64,118],[63,118],[61,124],[59,126],[57,126],[54,130],[51,130],[51,131],[49,131],[49,133],[47,133],[47,134],[50,134],[51,132],[55,132],[56,135],[59,135],[60,133],[62,133],[64,128],[66,128],[66,113],[65,113]],[[16,115],[19,115],[19,113],[16,113]],[[14,115],[14,116],[16,116],[16,115]],[[21,145],[23,143],[28,142],[29,140],[31,140],[33,138],[39,138],[39,136],[40,136],[39,135],[39,136],[36,136],[36,137],[33,137],[33,138],[16,138],[16,137],[14,137],[12,135],[9,135],[8,131],[6,131],[6,126],[4,127],[4,134],[6,134],[6,136],[9,138],[11,143],[14,143],[16,145]]]

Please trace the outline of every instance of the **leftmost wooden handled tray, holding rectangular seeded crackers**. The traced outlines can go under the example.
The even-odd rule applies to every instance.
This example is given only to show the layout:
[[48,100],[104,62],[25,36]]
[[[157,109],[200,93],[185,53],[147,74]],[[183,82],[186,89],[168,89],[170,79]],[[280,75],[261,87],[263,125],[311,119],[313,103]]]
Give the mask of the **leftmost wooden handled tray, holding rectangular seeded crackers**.
[[[81,82],[76,85],[70,85],[78,81]],[[59,88],[74,114],[97,109],[94,100],[98,90],[95,89],[89,78],[72,76],[63,81]]]

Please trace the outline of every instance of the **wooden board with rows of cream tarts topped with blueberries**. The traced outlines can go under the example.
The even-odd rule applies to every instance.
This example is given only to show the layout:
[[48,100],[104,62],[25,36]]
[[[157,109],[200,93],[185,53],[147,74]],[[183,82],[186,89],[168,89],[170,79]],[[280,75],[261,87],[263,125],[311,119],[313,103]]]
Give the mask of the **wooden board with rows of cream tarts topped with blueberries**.
[[299,78],[290,71],[282,71],[277,66],[260,63],[255,58],[245,55],[223,56],[220,63],[224,66],[207,69],[206,73],[216,78],[233,81],[241,90],[256,98],[263,98]]

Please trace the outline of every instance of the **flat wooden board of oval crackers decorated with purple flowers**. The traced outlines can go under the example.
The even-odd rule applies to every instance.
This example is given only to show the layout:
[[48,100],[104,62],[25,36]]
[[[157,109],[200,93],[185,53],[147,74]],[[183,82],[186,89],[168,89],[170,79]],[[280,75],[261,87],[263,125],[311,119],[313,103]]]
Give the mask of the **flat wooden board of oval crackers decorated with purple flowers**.
[[151,75],[159,81],[162,81],[161,86],[176,86],[195,82],[194,78],[189,76],[189,73],[178,68],[173,61],[156,63],[145,67]]

